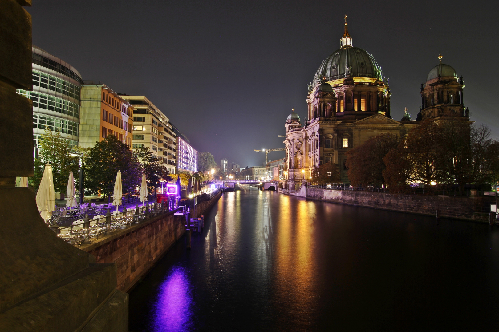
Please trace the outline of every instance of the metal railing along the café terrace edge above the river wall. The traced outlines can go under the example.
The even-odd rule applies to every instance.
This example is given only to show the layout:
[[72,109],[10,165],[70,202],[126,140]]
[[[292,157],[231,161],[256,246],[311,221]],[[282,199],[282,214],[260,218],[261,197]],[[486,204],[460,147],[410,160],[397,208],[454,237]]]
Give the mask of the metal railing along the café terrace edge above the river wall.
[[[125,229],[135,223],[147,221],[153,217],[173,211],[178,208],[178,203],[161,202],[152,205],[146,204],[142,207],[127,210],[122,212],[107,212],[106,215],[97,215],[90,217],[86,215],[80,221],[74,221],[69,226],[50,225],[50,228],[62,238],[64,241],[71,244],[90,244],[91,240],[96,240],[99,236],[108,235],[120,229]],[[173,203],[173,204],[172,204]]]

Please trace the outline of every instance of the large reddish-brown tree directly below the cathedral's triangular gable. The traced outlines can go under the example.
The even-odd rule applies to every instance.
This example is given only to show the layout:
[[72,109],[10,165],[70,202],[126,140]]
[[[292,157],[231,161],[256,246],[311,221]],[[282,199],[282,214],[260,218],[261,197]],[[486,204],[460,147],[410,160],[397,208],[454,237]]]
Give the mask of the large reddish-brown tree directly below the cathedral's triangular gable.
[[346,166],[348,178],[354,185],[361,183],[381,186],[386,181],[383,177],[388,151],[397,147],[397,136],[384,133],[369,138],[364,144],[347,152]]

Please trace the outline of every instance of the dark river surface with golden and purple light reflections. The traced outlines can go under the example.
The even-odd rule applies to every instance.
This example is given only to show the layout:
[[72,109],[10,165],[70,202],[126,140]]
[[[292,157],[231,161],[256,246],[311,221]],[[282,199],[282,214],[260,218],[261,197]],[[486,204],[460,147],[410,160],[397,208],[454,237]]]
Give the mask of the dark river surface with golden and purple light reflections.
[[256,190],[130,294],[130,331],[497,331],[499,230]]

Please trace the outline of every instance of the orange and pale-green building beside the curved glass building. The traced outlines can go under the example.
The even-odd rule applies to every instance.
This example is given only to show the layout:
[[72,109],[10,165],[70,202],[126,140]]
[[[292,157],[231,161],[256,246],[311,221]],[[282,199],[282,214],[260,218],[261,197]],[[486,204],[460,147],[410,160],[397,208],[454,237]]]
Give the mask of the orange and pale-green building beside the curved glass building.
[[92,147],[107,135],[132,146],[133,107],[101,81],[83,81],[79,144]]

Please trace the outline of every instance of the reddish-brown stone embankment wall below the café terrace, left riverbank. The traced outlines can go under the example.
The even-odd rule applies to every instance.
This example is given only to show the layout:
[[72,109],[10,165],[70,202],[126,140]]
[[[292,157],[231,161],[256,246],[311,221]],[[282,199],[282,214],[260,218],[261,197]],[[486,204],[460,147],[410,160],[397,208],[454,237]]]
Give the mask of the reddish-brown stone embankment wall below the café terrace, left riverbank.
[[[211,209],[221,196],[218,193],[211,200],[197,204],[196,217]],[[186,219],[176,216],[176,211],[133,224],[78,248],[92,254],[97,263],[116,263],[116,288],[128,292],[184,235]]]

